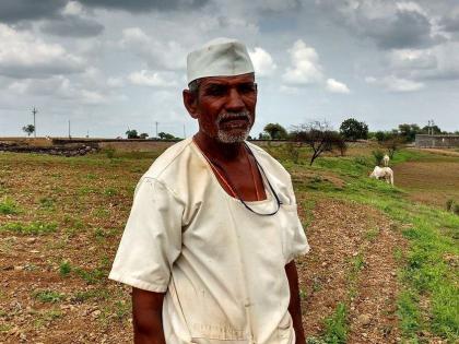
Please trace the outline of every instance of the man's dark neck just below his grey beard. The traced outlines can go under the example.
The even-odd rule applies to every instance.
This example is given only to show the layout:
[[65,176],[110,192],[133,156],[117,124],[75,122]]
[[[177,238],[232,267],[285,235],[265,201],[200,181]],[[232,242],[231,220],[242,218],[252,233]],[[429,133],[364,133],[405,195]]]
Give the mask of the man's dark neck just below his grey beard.
[[244,142],[223,143],[201,131],[195,135],[193,140],[209,158],[217,162],[232,163],[242,159],[246,154]]

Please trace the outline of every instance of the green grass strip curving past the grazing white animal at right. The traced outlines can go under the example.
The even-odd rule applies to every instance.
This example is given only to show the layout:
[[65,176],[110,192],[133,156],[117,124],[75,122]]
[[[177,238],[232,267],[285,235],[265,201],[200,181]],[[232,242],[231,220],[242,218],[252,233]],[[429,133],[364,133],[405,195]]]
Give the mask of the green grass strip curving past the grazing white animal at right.
[[[396,250],[395,256],[401,264],[400,276],[404,285],[398,303],[403,336],[405,340],[417,341],[417,333],[424,331],[451,343],[458,342],[459,275],[457,268],[448,264],[444,257],[459,256],[459,216],[413,203],[408,199],[408,191],[369,179],[368,174],[374,167],[369,153],[362,157],[321,157],[313,167],[295,165],[285,156],[281,158],[284,158],[284,166],[293,174],[292,180],[299,193],[297,198],[333,198],[370,205],[384,212],[395,221],[397,227],[402,228],[409,247],[404,248],[405,252]],[[419,159],[443,162],[445,158],[414,150],[402,150],[397,152],[391,164]],[[333,189],[317,178],[311,188],[310,180],[295,177],[295,171],[304,170],[325,176],[333,173],[345,181],[344,187],[341,190]],[[376,236],[376,229],[365,235],[369,241]],[[355,273],[364,262],[354,261],[353,264]],[[428,307],[421,307],[422,299],[427,300],[424,304]]]

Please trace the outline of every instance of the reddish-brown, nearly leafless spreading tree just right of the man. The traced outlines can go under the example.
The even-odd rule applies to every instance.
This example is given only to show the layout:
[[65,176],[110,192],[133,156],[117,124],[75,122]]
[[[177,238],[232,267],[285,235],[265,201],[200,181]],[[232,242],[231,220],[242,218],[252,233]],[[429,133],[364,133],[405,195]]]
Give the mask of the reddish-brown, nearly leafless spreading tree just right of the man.
[[301,124],[294,129],[292,138],[296,142],[305,143],[313,150],[309,165],[313,165],[314,161],[323,152],[331,152],[333,149],[339,149],[342,154],[345,152],[344,140],[338,132],[331,130],[327,121],[314,120]]

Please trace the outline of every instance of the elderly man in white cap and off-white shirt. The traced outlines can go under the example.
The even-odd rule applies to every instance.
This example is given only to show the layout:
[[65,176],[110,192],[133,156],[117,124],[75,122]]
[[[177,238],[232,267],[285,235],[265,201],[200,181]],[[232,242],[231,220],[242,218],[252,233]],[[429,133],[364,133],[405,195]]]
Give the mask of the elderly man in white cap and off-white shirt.
[[110,278],[132,286],[136,343],[305,343],[294,258],[309,247],[285,169],[245,140],[257,84],[246,47],[188,56],[199,131],[139,181]]

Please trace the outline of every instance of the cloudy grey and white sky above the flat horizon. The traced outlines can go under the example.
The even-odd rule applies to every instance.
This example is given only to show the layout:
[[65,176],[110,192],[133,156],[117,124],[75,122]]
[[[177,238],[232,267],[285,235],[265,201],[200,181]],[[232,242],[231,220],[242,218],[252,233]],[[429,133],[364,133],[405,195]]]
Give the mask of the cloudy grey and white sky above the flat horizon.
[[186,55],[249,47],[258,134],[349,117],[459,130],[459,0],[1,0],[0,135],[191,135]]

